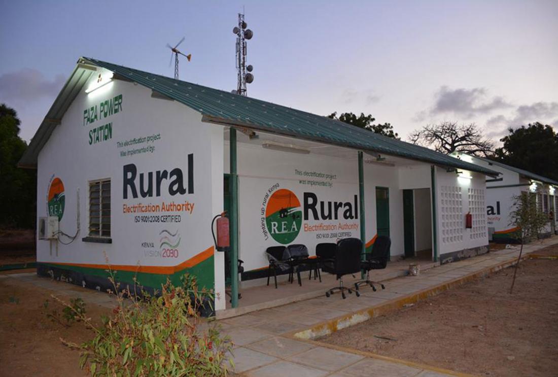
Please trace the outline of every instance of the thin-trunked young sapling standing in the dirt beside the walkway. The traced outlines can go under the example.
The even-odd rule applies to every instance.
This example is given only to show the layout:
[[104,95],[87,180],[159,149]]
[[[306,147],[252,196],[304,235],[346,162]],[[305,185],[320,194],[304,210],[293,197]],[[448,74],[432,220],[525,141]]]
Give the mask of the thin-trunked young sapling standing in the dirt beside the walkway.
[[517,234],[521,238],[521,249],[519,249],[516,269],[513,272],[512,287],[509,288],[510,294],[513,292],[513,284],[516,282],[517,266],[521,260],[523,244],[536,240],[549,222],[549,216],[537,206],[535,193],[522,192],[519,195],[514,195],[512,208],[513,211],[509,213],[509,225],[514,225],[518,228]]

